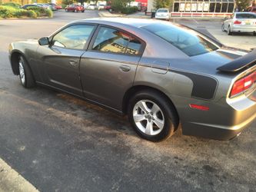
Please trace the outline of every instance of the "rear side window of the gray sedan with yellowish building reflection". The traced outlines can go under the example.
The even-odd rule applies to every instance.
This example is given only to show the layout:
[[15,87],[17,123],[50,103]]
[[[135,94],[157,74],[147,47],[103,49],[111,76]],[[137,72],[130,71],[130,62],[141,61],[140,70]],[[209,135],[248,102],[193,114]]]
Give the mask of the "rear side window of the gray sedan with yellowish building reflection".
[[101,27],[92,47],[96,51],[138,55],[141,42],[123,31]]

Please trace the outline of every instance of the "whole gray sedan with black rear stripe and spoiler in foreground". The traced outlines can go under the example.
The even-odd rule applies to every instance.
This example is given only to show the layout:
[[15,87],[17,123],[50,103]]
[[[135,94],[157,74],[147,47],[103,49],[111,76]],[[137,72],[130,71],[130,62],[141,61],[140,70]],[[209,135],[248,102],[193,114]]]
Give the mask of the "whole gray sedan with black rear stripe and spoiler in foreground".
[[14,74],[128,114],[161,141],[183,134],[228,140],[256,118],[256,50],[227,48],[171,22],[91,18],[9,46]]

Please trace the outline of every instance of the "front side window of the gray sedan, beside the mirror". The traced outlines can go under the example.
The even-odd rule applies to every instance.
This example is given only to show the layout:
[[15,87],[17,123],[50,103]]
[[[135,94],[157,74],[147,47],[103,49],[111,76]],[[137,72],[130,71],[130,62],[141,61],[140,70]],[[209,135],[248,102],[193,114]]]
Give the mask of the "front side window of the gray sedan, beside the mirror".
[[55,35],[52,39],[52,45],[62,48],[83,49],[94,28],[94,25],[72,25]]

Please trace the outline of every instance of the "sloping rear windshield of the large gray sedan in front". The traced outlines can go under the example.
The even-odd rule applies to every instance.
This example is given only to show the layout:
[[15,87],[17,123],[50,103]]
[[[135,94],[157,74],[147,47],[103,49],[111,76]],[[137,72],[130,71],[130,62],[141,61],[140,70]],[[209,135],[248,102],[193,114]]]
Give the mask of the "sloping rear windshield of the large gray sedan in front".
[[201,55],[218,49],[216,45],[202,38],[200,35],[174,25],[152,24],[142,28],[164,38],[188,56]]

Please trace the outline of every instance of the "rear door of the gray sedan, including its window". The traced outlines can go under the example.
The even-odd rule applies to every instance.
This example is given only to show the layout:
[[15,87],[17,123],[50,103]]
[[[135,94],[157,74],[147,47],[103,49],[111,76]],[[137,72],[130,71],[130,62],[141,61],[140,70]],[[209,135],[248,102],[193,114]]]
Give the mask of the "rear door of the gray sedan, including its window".
[[145,43],[126,31],[99,26],[88,51],[81,56],[80,75],[85,97],[121,110],[125,91],[135,78]]

